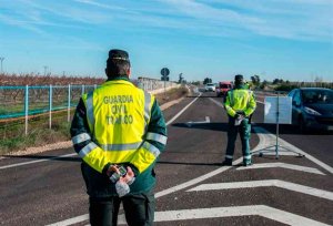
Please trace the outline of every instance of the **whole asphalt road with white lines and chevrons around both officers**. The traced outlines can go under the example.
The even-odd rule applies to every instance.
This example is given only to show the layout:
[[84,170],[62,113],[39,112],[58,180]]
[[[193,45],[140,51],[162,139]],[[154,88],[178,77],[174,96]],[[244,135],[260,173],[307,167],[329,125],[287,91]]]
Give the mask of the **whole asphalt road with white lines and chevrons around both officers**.
[[[240,166],[238,141],[234,166],[221,166],[228,130],[221,103],[203,93],[164,111],[169,140],[155,168],[155,225],[333,225],[333,134],[281,125],[278,160],[274,151],[256,152],[253,166]],[[275,126],[263,124],[259,103],[251,147],[274,142]],[[0,194],[2,225],[89,224],[72,148],[1,160]]]

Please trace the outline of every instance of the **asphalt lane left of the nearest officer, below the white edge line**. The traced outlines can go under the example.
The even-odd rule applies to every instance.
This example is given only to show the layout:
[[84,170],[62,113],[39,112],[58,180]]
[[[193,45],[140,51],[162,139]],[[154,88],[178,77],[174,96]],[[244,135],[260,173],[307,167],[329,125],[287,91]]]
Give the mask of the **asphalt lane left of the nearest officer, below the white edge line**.
[[46,225],[87,213],[79,162],[48,161],[0,171],[1,223]]

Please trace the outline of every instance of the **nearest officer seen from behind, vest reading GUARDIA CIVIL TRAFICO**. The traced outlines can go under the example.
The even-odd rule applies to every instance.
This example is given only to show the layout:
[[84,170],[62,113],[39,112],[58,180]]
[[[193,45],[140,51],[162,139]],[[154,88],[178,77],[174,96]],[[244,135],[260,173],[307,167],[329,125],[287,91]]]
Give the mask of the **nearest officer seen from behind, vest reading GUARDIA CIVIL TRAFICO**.
[[129,80],[129,54],[110,50],[108,80],[82,95],[71,124],[89,195],[90,224],[117,225],[120,204],[131,226],[152,225],[154,165],[167,126],[153,95]]

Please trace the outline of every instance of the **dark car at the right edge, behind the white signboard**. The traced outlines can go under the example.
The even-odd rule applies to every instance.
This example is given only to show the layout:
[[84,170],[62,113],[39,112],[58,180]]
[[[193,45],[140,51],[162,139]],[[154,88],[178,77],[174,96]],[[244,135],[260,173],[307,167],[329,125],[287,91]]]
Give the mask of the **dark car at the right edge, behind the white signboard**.
[[292,90],[292,123],[301,132],[310,129],[333,131],[333,90],[300,88]]

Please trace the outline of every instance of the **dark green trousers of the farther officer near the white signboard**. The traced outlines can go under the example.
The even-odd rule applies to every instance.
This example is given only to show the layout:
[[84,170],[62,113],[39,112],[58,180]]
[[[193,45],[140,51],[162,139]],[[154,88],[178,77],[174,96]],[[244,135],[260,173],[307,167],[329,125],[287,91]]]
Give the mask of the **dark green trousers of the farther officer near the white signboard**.
[[251,163],[251,153],[250,153],[251,124],[249,123],[249,119],[244,119],[240,125],[235,126],[234,119],[231,116],[229,116],[225,161],[231,163],[233,160],[233,153],[234,153],[238,134],[240,134],[242,141],[243,163],[246,164]]

